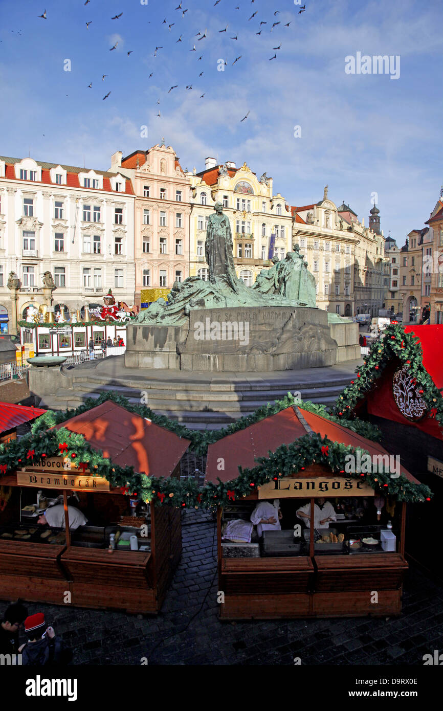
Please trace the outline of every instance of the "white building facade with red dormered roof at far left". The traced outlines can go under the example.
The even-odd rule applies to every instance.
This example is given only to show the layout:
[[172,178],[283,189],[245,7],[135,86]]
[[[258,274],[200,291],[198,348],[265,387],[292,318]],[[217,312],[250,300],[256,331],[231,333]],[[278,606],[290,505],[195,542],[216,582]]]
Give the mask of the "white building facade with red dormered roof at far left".
[[133,303],[134,193],[122,173],[0,156],[0,311],[10,331],[43,303],[45,272],[65,317],[102,306],[110,288]]

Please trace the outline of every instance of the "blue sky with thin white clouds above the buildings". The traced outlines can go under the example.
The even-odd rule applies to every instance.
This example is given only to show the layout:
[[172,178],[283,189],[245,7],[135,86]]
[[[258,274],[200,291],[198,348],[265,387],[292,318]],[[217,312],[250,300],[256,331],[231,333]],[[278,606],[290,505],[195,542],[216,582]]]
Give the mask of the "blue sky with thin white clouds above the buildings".
[[[302,14],[294,0],[142,2],[1,0],[1,155],[108,169],[164,136],[183,168],[246,161],[292,205],[328,183],[368,224],[377,193],[398,245],[422,227],[443,182],[440,0],[306,0]],[[346,74],[357,52],[400,55],[400,77]]]

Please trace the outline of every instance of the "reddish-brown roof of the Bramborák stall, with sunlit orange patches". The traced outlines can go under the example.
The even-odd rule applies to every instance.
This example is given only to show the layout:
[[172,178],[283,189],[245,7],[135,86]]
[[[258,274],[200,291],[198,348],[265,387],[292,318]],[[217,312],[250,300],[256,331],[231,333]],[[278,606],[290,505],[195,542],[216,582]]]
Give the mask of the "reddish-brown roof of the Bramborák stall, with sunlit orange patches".
[[82,434],[94,449],[119,466],[133,466],[147,476],[170,476],[191,444],[164,427],[107,400],[56,429]]

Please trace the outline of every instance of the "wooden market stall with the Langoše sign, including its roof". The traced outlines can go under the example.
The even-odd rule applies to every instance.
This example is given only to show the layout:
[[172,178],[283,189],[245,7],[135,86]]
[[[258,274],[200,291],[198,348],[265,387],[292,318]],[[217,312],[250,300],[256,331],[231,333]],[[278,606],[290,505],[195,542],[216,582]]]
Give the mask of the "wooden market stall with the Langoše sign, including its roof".
[[[251,493],[236,495],[239,477],[246,476],[245,471],[239,474],[238,467],[253,479],[252,474],[267,461],[269,466],[285,461],[289,449],[278,450],[282,444],[293,452],[300,445],[306,452],[297,472],[289,470],[281,476],[282,469],[275,464],[267,483],[245,485],[243,480],[247,488],[241,491]],[[328,456],[336,456],[337,447],[343,445],[350,447],[346,451],[361,448],[371,458],[388,456],[380,444],[298,407],[288,407],[210,445],[206,481],[230,483],[229,503],[218,508],[221,619],[400,614],[407,570],[406,505],[394,496],[382,498],[378,484],[371,479],[370,486],[364,474],[359,478],[332,471]],[[313,455],[316,447],[318,454]],[[257,457],[267,460],[257,464]],[[420,486],[403,468],[400,476],[399,481]],[[331,527],[320,530],[314,527],[319,498],[327,498],[336,512]],[[260,501],[275,499],[282,530],[267,530],[259,538],[250,522],[253,510]],[[301,506],[311,517],[306,528],[297,513]],[[237,528],[229,528],[230,522]],[[235,530],[240,530],[239,538],[231,533]]]

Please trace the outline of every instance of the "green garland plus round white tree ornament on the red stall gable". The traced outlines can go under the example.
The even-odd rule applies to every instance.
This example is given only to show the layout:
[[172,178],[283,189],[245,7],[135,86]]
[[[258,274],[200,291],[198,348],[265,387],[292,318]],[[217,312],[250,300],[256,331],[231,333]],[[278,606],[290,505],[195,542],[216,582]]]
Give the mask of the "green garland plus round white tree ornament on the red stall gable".
[[342,418],[352,420],[358,402],[375,387],[393,358],[398,362],[393,377],[394,399],[402,415],[413,421],[434,417],[443,429],[443,397],[422,363],[422,344],[413,331],[405,333],[402,326],[393,324],[370,346],[365,362],[356,370],[357,379],[338,396],[333,414],[340,422]]

